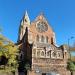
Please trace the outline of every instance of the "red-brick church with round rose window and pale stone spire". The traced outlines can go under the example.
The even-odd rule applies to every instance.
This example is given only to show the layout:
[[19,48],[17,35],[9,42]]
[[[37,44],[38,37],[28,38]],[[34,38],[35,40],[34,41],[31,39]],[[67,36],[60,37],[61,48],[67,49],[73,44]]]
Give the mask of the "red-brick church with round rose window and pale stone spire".
[[63,45],[57,47],[55,33],[43,14],[30,22],[26,12],[19,27],[18,45],[20,61],[30,65],[27,75],[68,75],[68,52]]

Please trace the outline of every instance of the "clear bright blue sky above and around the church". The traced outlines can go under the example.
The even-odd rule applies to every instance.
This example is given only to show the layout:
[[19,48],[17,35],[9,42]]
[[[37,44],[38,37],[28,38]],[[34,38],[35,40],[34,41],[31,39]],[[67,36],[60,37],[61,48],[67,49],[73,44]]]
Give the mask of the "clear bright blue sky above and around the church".
[[[56,33],[58,45],[75,37],[75,0],[0,0],[0,26],[8,39],[17,41],[20,20],[26,10],[31,21],[44,13]],[[75,38],[70,40],[70,45],[74,41]]]

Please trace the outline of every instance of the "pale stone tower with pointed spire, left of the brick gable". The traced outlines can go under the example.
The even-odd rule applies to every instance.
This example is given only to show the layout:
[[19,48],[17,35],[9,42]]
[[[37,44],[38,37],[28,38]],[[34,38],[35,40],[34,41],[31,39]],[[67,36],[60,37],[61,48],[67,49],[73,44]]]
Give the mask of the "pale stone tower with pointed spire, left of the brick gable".
[[22,38],[25,34],[25,29],[26,29],[26,27],[29,28],[29,26],[30,26],[30,19],[29,19],[28,13],[26,11],[26,13],[24,14],[24,16],[21,20],[21,23],[20,23],[18,41],[22,40]]

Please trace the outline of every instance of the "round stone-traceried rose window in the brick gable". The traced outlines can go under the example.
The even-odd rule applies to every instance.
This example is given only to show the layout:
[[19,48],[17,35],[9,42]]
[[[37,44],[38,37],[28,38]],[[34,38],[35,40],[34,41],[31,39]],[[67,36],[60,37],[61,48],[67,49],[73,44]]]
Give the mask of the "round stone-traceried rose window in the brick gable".
[[48,30],[48,26],[45,22],[37,22],[36,28],[38,32],[45,32]]

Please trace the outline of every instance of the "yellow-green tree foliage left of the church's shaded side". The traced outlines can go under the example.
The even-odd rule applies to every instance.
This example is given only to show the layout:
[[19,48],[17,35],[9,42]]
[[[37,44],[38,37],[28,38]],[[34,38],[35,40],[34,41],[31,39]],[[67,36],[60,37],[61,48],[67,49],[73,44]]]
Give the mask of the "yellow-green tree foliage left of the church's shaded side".
[[[0,35],[0,57],[5,56],[8,62],[3,70],[15,71],[18,67],[18,61],[16,59],[18,55],[18,46],[14,45],[13,42],[9,41],[4,36]],[[1,67],[1,66],[0,66]]]

